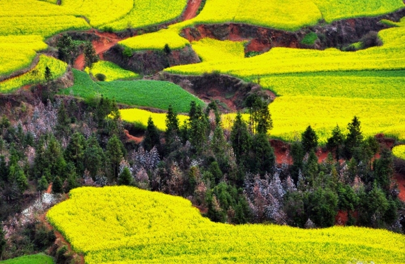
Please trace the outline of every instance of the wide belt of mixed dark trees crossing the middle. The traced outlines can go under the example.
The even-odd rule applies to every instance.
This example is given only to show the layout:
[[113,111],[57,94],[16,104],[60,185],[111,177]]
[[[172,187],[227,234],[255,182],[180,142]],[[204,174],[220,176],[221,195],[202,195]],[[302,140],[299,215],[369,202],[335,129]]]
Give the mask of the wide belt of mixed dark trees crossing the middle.
[[159,131],[149,118],[140,145],[123,141],[118,108],[103,96],[38,100],[19,122],[3,116],[1,219],[22,209],[24,195],[44,192],[50,183],[54,193],[118,184],[186,197],[218,222],[308,228],[342,221],[403,232],[392,154],[379,149],[374,137],[363,137],[357,117],[347,135],[333,129],[322,163],[318,137],[308,126],[290,145],[291,163],[276,164],[267,103],[250,97],[246,106],[251,118],[245,122],[238,113],[229,131],[215,102],[205,110],[191,102],[182,124],[169,107],[167,130]]

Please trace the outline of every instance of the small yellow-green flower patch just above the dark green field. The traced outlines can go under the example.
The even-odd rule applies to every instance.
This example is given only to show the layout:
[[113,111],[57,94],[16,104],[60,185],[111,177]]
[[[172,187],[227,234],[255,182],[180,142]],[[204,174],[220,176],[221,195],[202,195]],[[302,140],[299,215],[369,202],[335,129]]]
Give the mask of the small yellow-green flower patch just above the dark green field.
[[[86,73],[89,73],[89,68],[86,67],[84,69]],[[91,73],[93,76],[96,74],[104,74],[106,75],[106,82],[116,81],[116,80],[125,80],[125,79],[134,79],[139,77],[138,74],[132,71],[124,70],[117,64],[114,64],[110,61],[100,60],[96,63],[93,63],[93,67],[91,68]]]

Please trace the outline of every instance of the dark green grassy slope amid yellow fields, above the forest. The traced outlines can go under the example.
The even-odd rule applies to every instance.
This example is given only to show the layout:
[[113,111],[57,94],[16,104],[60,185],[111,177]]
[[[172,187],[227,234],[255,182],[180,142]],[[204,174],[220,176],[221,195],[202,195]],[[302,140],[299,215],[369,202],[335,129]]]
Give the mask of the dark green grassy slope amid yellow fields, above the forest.
[[171,104],[177,112],[189,112],[190,101],[203,104],[183,88],[169,82],[161,81],[115,81],[93,82],[89,75],[73,69],[75,85],[64,89],[64,94],[73,92],[76,96],[89,97],[97,93],[114,97],[118,103],[159,108],[167,110]]

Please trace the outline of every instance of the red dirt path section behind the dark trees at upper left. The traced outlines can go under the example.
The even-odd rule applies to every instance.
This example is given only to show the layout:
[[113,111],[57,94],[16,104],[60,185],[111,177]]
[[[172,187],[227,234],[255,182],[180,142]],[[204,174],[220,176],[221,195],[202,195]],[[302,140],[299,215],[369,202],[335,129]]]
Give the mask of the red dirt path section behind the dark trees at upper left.
[[[93,41],[93,47],[96,50],[96,54],[100,56],[100,59],[103,59],[103,53],[108,51],[109,48],[117,44],[119,41],[124,40],[126,38],[120,38],[114,33],[108,32],[98,32],[97,30],[90,30],[91,33],[100,37],[99,40]],[[78,70],[84,69],[84,55],[81,54],[75,60],[74,67]]]

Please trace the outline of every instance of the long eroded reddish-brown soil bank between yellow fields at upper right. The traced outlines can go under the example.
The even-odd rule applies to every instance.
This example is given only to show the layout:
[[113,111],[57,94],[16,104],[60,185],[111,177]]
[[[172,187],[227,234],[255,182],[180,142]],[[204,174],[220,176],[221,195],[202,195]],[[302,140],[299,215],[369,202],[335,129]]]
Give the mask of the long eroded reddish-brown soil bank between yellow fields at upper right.
[[[224,23],[216,25],[196,25],[183,29],[182,35],[189,41],[210,37],[218,40],[248,41],[245,53],[249,51],[267,52],[273,47],[319,49],[342,48],[360,41],[370,31],[387,29],[389,26],[380,23],[381,19],[399,21],[405,16],[405,9],[388,15],[374,18],[354,18],[319,24],[297,31],[284,31],[240,23]],[[313,45],[302,44],[301,41],[309,32],[315,32],[318,39]]]

